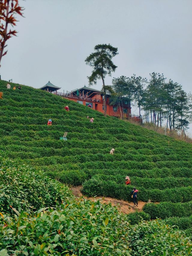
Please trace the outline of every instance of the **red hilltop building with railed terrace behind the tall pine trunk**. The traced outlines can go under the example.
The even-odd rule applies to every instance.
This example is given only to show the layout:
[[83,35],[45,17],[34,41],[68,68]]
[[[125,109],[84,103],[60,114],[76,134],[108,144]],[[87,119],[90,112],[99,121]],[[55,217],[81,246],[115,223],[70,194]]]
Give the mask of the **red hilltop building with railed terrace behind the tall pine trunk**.
[[[59,94],[59,93],[57,93]],[[64,98],[67,98],[71,101],[75,101],[79,104],[82,104],[84,106],[91,105],[91,108],[94,110],[98,110],[101,113],[104,113],[104,107],[103,107],[103,94],[101,91],[92,89],[89,87],[82,87],[80,89],[75,89],[71,91],[70,93],[62,94],[61,96]],[[109,102],[110,95],[106,95],[106,108],[107,108],[107,115],[109,116],[118,116],[120,117],[120,109],[117,105],[110,105]],[[124,115],[125,118],[129,118],[131,116],[131,103],[126,102],[123,107],[121,107],[122,115]]]

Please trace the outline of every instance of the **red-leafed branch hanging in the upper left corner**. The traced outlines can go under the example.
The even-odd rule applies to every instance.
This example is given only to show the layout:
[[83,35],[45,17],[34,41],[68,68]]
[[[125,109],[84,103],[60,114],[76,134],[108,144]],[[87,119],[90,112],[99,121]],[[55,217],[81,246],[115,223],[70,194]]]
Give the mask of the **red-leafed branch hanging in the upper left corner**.
[[4,48],[7,46],[6,41],[17,33],[16,30],[8,29],[8,26],[16,26],[17,20],[14,14],[22,16],[23,10],[19,6],[18,0],[0,0],[0,63],[2,56],[7,53],[7,51],[4,52]]

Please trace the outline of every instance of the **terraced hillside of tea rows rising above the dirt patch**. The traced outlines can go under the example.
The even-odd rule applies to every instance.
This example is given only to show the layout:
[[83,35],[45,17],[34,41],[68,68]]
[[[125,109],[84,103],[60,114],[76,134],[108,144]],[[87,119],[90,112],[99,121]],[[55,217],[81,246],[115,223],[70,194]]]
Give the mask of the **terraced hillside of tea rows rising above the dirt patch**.
[[[88,196],[147,202],[192,200],[192,145],[29,86],[0,81],[0,150]],[[18,85],[16,85],[18,86]],[[64,110],[68,105],[70,111]],[[90,123],[87,116],[94,117]],[[48,119],[52,126],[47,126]],[[67,131],[67,141],[59,140]],[[115,148],[114,155],[109,152]],[[125,186],[125,176],[131,186]]]

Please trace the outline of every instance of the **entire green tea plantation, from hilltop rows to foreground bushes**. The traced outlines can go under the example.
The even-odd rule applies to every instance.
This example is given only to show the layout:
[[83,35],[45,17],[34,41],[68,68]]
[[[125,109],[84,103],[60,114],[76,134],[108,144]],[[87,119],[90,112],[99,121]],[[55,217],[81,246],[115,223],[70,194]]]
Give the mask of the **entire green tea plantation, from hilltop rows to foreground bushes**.
[[[181,231],[190,235],[192,228],[191,144],[104,118],[39,89],[13,91],[6,84],[0,81],[0,255],[191,254],[191,241]],[[65,131],[67,141],[59,140]],[[131,186],[124,184],[127,175]],[[83,184],[86,195],[128,201],[135,186],[138,199],[152,203],[143,212],[122,215],[110,205],[76,202],[66,186],[47,176]]]

